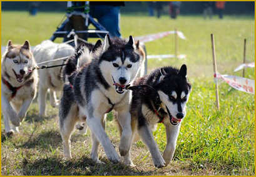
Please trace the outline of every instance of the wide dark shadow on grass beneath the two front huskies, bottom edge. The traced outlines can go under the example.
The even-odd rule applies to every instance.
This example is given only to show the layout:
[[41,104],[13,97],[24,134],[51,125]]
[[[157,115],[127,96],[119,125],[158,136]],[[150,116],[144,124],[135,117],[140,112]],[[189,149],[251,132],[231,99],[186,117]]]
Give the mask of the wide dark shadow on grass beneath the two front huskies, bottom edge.
[[88,156],[64,161],[60,158],[43,158],[30,163],[23,160],[23,175],[150,175],[122,165],[121,163],[113,164],[108,160],[103,160],[105,165],[95,164]]

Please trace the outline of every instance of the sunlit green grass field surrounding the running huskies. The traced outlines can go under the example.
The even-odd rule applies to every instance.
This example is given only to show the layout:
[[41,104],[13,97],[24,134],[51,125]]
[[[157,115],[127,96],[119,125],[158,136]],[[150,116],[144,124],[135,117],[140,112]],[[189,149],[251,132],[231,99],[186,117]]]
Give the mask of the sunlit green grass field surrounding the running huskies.
[[[1,45],[6,45],[9,39],[14,44],[28,39],[31,45],[37,45],[51,37],[63,15],[41,12],[32,17],[28,12],[2,12]],[[71,138],[73,159],[64,161],[58,108],[52,108],[48,102],[48,116],[40,118],[38,103],[34,100],[19,134],[4,135],[2,116],[1,175],[255,175],[254,95],[220,82],[220,110],[216,110],[210,43],[213,33],[218,72],[241,76],[242,71],[234,73],[233,70],[243,61],[243,39],[247,39],[248,62],[255,58],[254,17],[225,16],[219,20],[215,16],[212,21],[204,21],[202,16],[179,16],[174,21],[168,16],[160,19],[145,14],[121,16],[121,34],[125,38],[175,28],[187,37],[178,41],[178,53],[186,54],[187,58],[148,60],[149,71],[163,65],[187,64],[188,80],[193,87],[170,165],[156,169],[141,141],[131,149],[135,168],[111,164],[102,147],[99,156],[106,165],[95,165],[90,160],[90,133],[79,135],[76,131]],[[148,42],[146,50],[150,55],[174,54],[174,36]],[[247,69],[245,77],[254,80],[254,69]],[[120,138],[111,113],[106,132],[118,147]],[[163,125],[158,125],[154,135],[163,152],[166,145]]]

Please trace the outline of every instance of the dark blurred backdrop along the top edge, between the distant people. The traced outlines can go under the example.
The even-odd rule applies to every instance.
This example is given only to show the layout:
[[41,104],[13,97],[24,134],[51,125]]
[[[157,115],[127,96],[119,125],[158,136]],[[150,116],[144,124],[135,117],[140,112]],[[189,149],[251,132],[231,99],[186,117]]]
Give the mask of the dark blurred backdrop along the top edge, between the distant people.
[[[169,13],[169,3],[168,1],[162,1],[163,14]],[[3,2],[2,1],[2,11],[28,11],[32,6],[32,1],[24,1],[24,2]],[[125,2],[125,7],[121,7],[122,13],[143,13],[148,12],[148,4],[149,2],[137,1],[137,2]],[[39,11],[65,11],[67,2],[61,1],[52,1],[52,2],[39,2],[38,10]],[[204,5],[203,2],[197,1],[185,1],[182,2],[180,6],[180,14],[189,15],[189,14],[202,14],[202,9]],[[216,12],[215,6],[213,4],[213,12]],[[225,14],[252,14],[254,16],[254,1],[228,1],[225,4]]]

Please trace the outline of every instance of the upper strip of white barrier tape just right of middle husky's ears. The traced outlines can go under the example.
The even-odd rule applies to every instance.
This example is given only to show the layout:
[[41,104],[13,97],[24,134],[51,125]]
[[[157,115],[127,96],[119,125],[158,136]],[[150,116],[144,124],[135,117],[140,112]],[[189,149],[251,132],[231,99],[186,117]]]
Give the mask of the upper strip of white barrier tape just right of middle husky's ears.
[[[156,34],[148,34],[146,36],[134,37],[134,39],[135,41],[140,41],[140,42],[151,42],[151,41],[155,41],[156,39],[161,39],[170,34],[175,34],[175,31],[158,32]],[[182,32],[177,31],[177,34],[178,34],[178,37],[180,37],[180,39],[186,39],[186,37]]]

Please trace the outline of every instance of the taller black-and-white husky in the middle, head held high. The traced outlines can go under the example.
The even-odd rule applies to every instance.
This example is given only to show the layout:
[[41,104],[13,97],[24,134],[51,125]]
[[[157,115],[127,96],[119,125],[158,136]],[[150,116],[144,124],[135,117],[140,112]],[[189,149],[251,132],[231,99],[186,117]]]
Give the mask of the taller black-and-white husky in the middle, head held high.
[[104,46],[92,57],[91,62],[74,72],[69,77],[70,83],[63,87],[59,123],[64,158],[71,158],[69,139],[74,125],[86,121],[93,140],[92,160],[101,163],[98,159],[98,145],[101,143],[108,159],[118,163],[118,153],[105,132],[105,114],[112,109],[118,113],[118,122],[123,128],[119,150],[124,156],[130,149],[132,134],[131,91],[125,87],[132,84],[138,74],[140,55],[136,52],[133,37],[125,42],[106,35]]

